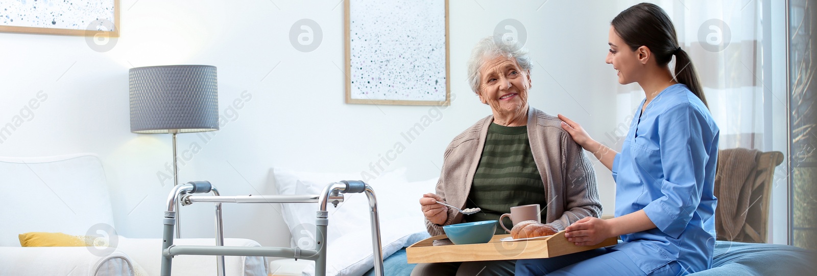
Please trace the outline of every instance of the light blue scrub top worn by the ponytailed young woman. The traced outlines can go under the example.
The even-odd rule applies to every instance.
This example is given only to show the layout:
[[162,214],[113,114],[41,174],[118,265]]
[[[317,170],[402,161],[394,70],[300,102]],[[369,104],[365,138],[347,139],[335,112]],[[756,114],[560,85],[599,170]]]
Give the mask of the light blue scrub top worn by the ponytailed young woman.
[[[683,84],[667,87],[641,113],[641,101],[613,162],[615,216],[644,210],[657,226],[625,234],[614,247],[645,274],[677,261],[684,274],[708,269],[715,246],[715,168],[719,130]],[[639,116],[641,114],[641,116]]]

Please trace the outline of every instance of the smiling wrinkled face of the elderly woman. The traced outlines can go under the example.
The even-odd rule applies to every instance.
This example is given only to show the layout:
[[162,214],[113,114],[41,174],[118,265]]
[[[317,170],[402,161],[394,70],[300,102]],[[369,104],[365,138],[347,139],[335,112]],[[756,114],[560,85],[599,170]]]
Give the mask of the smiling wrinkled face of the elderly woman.
[[478,94],[480,101],[490,105],[495,115],[512,116],[527,112],[529,89],[529,72],[522,71],[516,58],[485,58],[480,67]]

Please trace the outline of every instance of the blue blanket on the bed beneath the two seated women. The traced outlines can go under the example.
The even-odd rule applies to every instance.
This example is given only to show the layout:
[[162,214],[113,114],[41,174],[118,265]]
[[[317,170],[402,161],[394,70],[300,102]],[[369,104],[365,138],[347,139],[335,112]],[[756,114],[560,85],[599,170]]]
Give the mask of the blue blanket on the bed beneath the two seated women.
[[[405,248],[383,260],[386,276],[410,275],[413,264],[406,261]],[[709,275],[813,275],[817,254],[788,245],[715,242],[712,269],[694,276]],[[364,276],[374,276],[374,269]]]

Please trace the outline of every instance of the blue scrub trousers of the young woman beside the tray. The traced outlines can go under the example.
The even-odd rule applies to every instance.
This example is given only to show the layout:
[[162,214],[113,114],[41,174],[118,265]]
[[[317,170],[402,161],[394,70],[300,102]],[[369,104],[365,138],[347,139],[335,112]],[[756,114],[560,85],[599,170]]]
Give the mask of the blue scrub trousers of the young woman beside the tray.
[[[679,275],[681,265],[672,261],[650,275]],[[547,259],[516,260],[517,276],[556,275],[647,275],[626,253],[609,248],[598,248]]]

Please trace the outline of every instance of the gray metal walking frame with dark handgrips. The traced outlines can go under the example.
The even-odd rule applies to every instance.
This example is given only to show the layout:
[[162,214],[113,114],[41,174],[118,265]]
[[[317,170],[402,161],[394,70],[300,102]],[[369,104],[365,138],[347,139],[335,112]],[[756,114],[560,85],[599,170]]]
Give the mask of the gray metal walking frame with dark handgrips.
[[[209,195],[194,195],[207,194]],[[342,180],[326,185],[320,194],[292,194],[292,195],[243,195],[221,196],[218,189],[209,181],[190,181],[176,185],[167,197],[167,211],[164,211],[164,229],[162,243],[162,276],[170,276],[172,260],[179,255],[216,256],[217,275],[224,276],[224,256],[270,256],[290,259],[315,260],[315,276],[326,275],[327,255],[327,203],[337,207],[343,202],[343,194],[363,193],[368,198],[370,220],[372,222],[372,250],[374,272],[383,276],[383,254],[380,241],[380,221],[377,216],[377,198],[372,187],[360,180]],[[176,225],[176,202],[181,200],[182,205],[193,203],[215,203],[216,205],[216,245],[215,246],[184,246],[173,244],[173,230]],[[319,203],[315,218],[315,249],[301,249],[299,247],[225,247],[224,228],[221,220],[221,203]]]

